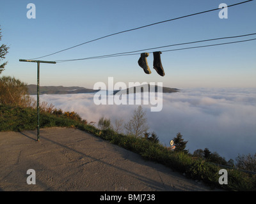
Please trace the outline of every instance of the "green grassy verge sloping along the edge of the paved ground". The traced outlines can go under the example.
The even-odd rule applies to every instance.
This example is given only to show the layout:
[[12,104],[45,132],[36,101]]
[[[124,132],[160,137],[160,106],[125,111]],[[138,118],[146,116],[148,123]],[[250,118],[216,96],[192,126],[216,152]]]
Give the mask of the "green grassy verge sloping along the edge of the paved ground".
[[[70,115],[70,114],[69,114]],[[74,115],[74,114],[72,114]],[[72,116],[74,117],[74,116]],[[135,138],[130,135],[118,134],[112,129],[100,130],[84,120],[70,119],[67,114],[40,113],[40,128],[67,127],[78,128],[92,133],[110,143],[140,154],[143,158],[164,164],[186,173],[191,179],[202,180],[211,187],[220,187],[229,191],[256,191],[256,175],[250,175],[235,169],[227,169],[228,184],[220,185],[218,174],[221,167],[207,163],[204,159],[196,159],[184,152],[173,152],[159,143],[153,143],[145,138]],[[37,113],[33,108],[0,105],[0,131],[24,131],[37,128]]]

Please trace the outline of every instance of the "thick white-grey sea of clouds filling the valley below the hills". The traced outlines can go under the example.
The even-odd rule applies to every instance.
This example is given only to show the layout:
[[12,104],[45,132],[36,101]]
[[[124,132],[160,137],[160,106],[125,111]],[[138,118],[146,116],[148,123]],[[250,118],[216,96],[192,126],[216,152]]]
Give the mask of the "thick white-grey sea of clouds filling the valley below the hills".
[[[40,101],[75,111],[88,122],[100,117],[127,122],[138,105],[95,105],[95,94],[41,95]],[[143,100],[141,100],[141,103]],[[208,148],[221,157],[236,160],[238,154],[256,153],[256,89],[182,89],[163,94],[161,112],[151,112],[143,105],[149,132],[170,146],[177,133],[188,141],[186,149]]]

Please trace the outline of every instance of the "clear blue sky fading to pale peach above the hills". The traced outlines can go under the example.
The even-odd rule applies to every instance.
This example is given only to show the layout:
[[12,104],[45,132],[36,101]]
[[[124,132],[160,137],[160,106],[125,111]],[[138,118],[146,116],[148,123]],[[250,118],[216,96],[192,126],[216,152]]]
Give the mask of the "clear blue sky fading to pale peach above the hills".
[[[72,47],[108,34],[218,8],[220,3],[234,0],[180,1],[0,1],[2,43],[9,47],[8,65],[3,75],[36,84],[36,63],[19,62]],[[36,18],[28,19],[28,3],[36,6]],[[118,34],[56,55],[45,61],[76,59],[95,55],[129,52],[175,43],[256,33],[256,2],[228,8],[228,19],[220,19],[212,11],[164,24]],[[246,40],[255,36],[227,41]],[[183,46],[183,47],[189,47]],[[196,45],[192,45],[196,46]],[[40,85],[83,86],[114,77],[114,82],[163,82],[166,87],[256,87],[256,41],[196,48],[161,55],[165,76],[153,69],[153,55],[147,58],[152,71],[146,75],[140,66],[140,55],[90,59],[40,65]],[[181,48],[181,47],[175,47]],[[168,49],[168,48],[167,48]],[[170,48],[171,49],[171,48]],[[166,48],[163,48],[166,50]],[[161,51],[150,50],[150,51]]]

